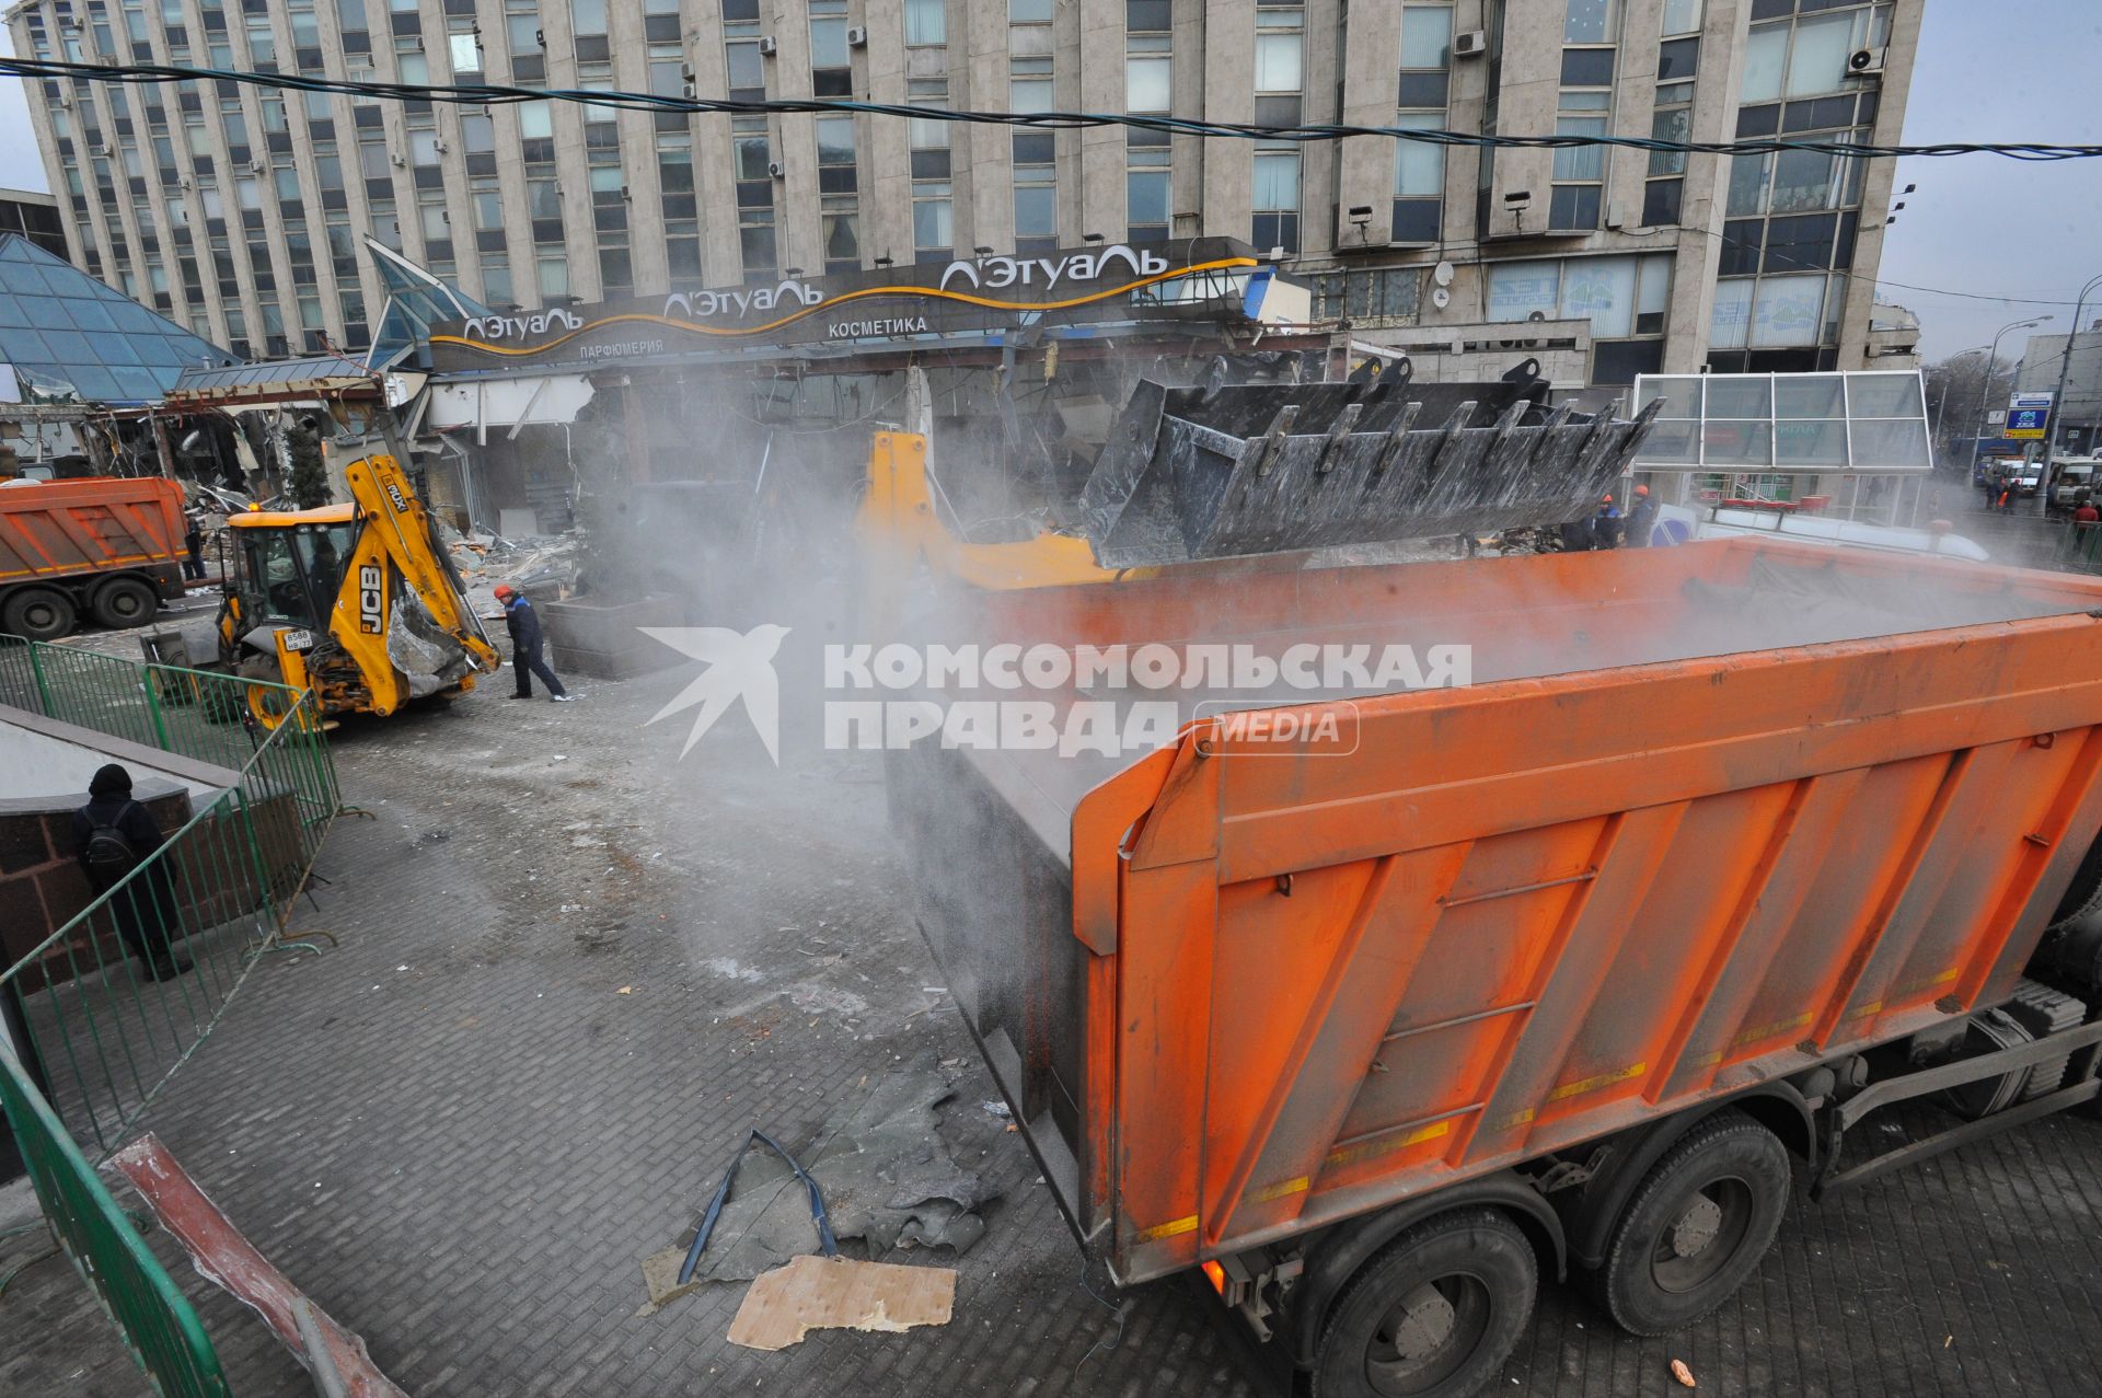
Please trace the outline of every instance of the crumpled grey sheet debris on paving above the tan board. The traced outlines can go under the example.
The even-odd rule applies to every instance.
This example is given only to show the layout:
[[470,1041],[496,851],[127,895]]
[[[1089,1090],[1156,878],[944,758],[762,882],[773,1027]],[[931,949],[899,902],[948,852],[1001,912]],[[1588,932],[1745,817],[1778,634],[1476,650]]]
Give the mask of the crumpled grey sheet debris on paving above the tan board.
[[[782,1142],[816,1177],[839,1240],[864,1238],[870,1253],[948,1247],[961,1255],[984,1236],[977,1209],[996,1198],[998,1188],[956,1165],[935,1131],[935,1106],[952,1095],[950,1076],[935,1066],[933,1053],[925,1053],[834,1112],[811,1137],[816,1144]],[[715,1160],[696,1160],[696,1188],[706,1190],[717,1169]],[[687,1228],[673,1247],[643,1259],[645,1310],[689,1289],[677,1278],[694,1232]],[[750,1280],[816,1247],[809,1196],[795,1171],[778,1156],[753,1152],[692,1284]]]

